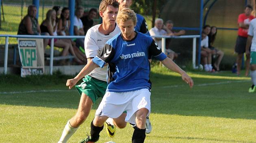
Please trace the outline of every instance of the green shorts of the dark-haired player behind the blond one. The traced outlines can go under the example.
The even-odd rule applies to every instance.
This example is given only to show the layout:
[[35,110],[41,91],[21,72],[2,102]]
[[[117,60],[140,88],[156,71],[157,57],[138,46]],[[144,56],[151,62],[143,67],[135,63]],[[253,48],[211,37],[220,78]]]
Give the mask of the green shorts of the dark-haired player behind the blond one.
[[105,95],[106,88],[108,86],[107,82],[98,80],[88,75],[85,76],[85,78],[82,80],[83,82],[80,85],[76,85],[76,89],[80,95],[85,93],[85,95],[90,97],[93,101],[93,104],[98,98]]

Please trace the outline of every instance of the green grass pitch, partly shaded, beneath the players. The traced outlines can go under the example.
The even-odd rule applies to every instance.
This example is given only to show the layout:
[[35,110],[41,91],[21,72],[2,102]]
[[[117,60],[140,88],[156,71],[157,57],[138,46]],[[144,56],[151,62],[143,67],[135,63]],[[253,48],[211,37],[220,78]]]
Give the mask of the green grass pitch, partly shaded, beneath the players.
[[[189,75],[195,82],[193,88],[178,74],[152,67],[153,129],[145,143],[256,142],[256,93],[247,92],[250,78],[237,77],[230,71],[193,71]],[[56,143],[80,99],[75,89],[65,87],[67,78],[72,77],[0,75],[0,142]],[[77,143],[90,132],[98,103],[70,143]],[[104,128],[98,142],[130,143],[132,132],[128,124],[109,138]]]

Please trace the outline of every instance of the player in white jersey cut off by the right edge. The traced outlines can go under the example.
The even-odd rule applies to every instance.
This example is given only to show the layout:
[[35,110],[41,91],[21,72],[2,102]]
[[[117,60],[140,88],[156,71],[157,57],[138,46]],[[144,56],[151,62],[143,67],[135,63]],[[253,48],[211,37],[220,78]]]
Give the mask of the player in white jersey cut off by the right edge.
[[[245,53],[250,56],[250,70],[252,78],[252,86],[249,88],[249,93],[254,93],[256,89],[256,19],[252,19],[249,24],[248,38],[245,48]],[[251,46],[251,52],[249,48]]]

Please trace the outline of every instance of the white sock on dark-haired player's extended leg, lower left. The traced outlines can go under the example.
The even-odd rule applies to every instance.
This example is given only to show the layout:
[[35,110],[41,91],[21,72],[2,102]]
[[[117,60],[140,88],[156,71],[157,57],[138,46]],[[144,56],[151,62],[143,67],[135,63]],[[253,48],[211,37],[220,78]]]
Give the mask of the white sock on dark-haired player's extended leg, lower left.
[[58,143],[66,143],[67,140],[76,132],[78,128],[73,128],[69,120],[67,121],[67,124],[62,132],[61,139],[58,141]]

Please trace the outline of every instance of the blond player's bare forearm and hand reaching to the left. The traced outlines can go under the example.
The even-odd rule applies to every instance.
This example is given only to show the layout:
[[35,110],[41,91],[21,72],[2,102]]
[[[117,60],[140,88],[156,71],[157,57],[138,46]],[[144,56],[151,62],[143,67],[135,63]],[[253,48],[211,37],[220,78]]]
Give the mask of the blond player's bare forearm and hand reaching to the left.
[[67,80],[66,86],[69,86],[69,89],[71,89],[73,86],[76,85],[76,83],[83,78],[85,75],[89,74],[93,69],[96,67],[99,67],[97,64],[95,64],[92,60],[90,60],[85,67],[82,68],[82,70],[79,72],[79,74],[72,79]]

